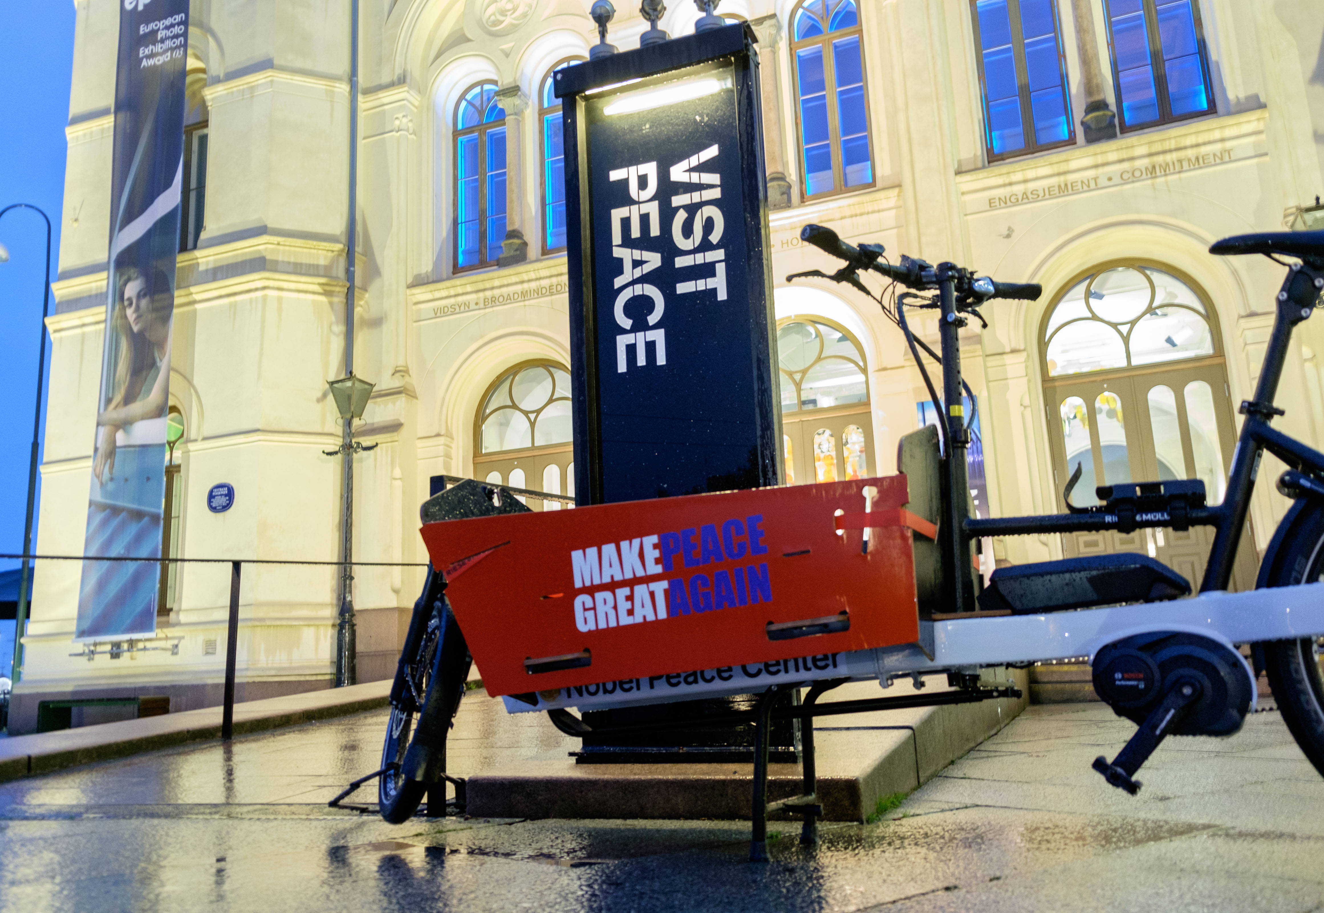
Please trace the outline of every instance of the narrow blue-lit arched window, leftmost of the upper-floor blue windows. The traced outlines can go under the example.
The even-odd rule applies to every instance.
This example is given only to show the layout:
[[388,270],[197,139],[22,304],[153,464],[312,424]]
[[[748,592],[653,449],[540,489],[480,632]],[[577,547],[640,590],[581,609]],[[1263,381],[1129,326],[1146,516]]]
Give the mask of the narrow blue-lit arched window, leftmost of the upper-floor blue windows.
[[455,269],[496,262],[506,239],[506,109],[481,82],[455,105]]

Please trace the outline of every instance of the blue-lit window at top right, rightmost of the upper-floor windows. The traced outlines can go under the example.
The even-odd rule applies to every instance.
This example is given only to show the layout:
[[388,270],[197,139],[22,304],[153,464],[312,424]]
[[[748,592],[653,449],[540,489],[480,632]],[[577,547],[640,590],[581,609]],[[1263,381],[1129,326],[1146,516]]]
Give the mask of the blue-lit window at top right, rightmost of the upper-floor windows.
[[1104,0],[1121,130],[1214,110],[1196,0]]

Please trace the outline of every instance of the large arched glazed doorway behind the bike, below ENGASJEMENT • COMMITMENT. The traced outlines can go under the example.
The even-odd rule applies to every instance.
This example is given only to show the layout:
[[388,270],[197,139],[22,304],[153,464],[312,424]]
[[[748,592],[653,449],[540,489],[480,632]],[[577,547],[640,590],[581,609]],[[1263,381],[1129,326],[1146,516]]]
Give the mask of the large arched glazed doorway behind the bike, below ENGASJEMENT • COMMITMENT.
[[[1158,264],[1103,264],[1067,285],[1039,342],[1062,506],[1076,468],[1078,508],[1099,504],[1099,485],[1180,478],[1201,480],[1207,502],[1222,502],[1235,427],[1217,314],[1194,281]],[[1068,557],[1148,553],[1198,583],[1211,535],[1202,526],[1076,533],[1063,547]],[[1241,586],[1254,575],[1246,559]]]

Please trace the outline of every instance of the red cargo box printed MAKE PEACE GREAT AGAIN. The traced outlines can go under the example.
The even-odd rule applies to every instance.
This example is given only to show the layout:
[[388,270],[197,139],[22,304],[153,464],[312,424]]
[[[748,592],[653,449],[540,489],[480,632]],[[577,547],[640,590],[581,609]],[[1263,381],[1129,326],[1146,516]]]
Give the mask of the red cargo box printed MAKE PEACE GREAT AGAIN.
[[890,476],[457,519],[422,538],[487,692],[515,694],[914,643],[911,530],[933,527],[907,501]]

